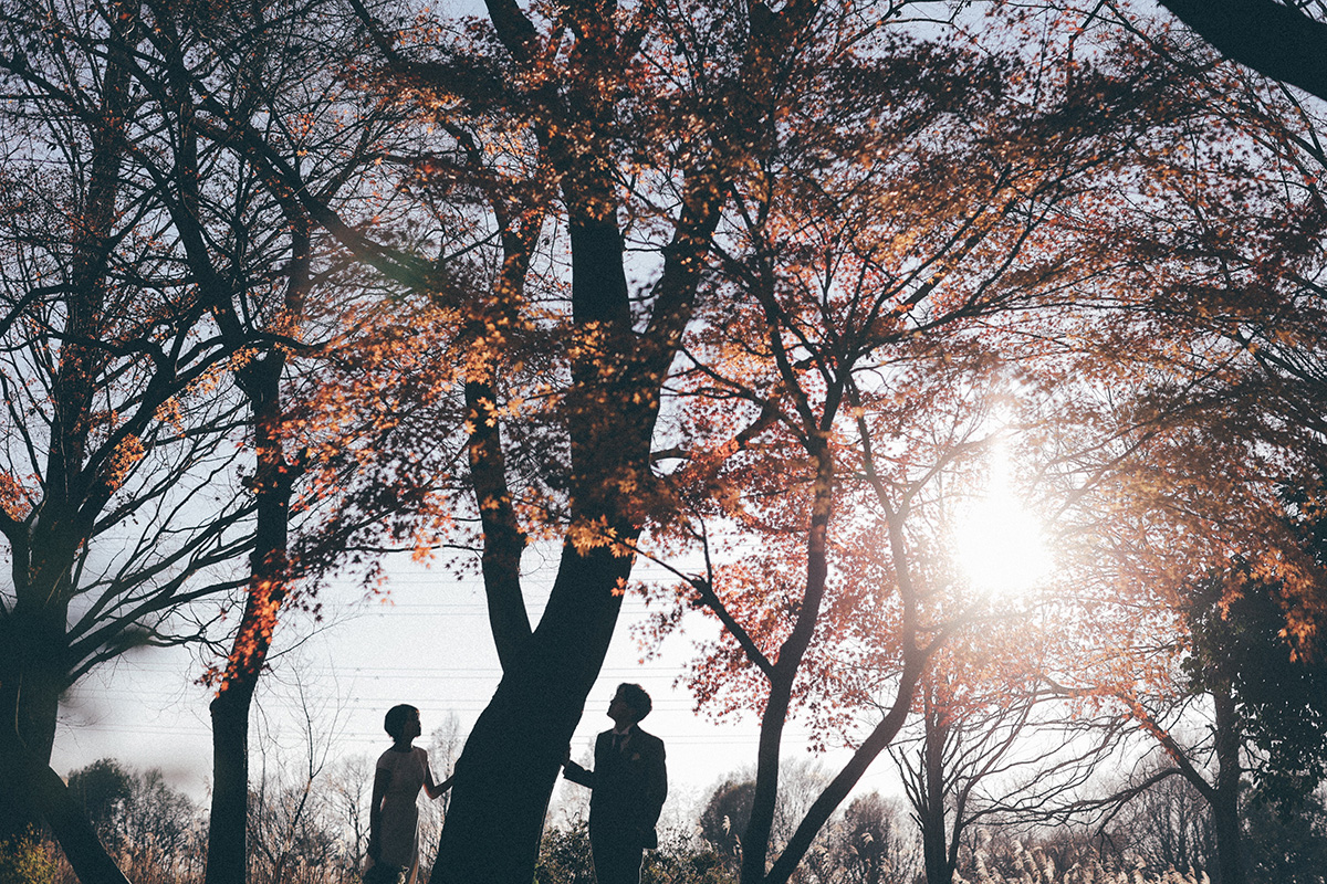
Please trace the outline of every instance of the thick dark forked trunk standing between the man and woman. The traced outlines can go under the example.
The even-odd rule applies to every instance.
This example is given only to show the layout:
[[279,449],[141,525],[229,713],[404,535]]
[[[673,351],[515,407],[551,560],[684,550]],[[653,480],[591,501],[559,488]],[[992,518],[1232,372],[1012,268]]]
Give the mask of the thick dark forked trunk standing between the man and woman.
[[[519,5],[510,0],[490,0],[487,5],[518,64],[541,65],[532,54],[533,25]],[[717,188],[687,191],[656,286],[654,313],[648,327],[637,331],[617,221],[618,183],[605,159],[613,155],[613,72],[622,61],[616,46],[616,5],[577,3],[568,13],[579,34],[571,60],[577,73],[568,81],[581,87],[567,102],[548,93],[548,110],[557,125],[541,129],[539,139],[561,176],[572,252],[572,323],[576,334],[584,335],[575,342],[572,384],[564,399],[572,530],[597,525],[630,545],[642,522],[634,492],[652,481],[650,441],[660,390],[690,317],[701,258],[718,224],[722,197]],[[576,125],[568,126],[569,121]],[[580,125],[588,138],[581,138]],[[577,135],[569,138],[571,131]],[[694,180],[689,176],[687,183]],[[479,404],[488,392],[468,391],[470,404]],[[476,493],[486,512],[503,504],[498,445],[496,433],[471,444],[472,470],[484,473],[479,484],[487,490],[476,486]],[[479,465],[475,457],[484,459],[486,448],[488,463]],[[519,575],[524,538],[512,525],[494,521],[486,522],[484,578],[503,679],[456,761],[434,884],[529,884],[548,799],[608,653],[632,571],[632,558],[622,549],[577,549],[568,537],[548,604],[531,632],[528,620],[515,610],[523,606],[514,577]]]

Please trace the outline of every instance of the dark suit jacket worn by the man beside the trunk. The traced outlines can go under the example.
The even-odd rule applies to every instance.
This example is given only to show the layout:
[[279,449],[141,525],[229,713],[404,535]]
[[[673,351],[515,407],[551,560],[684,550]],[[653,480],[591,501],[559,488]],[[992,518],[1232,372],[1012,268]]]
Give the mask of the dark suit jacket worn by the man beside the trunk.
[[613,732],[594,741],[594,770],[567,763],[567,779],[593,789],[589,799],[589,836],[638,847],[658,847],[658,822],[667,797],[664,741],[633,726],[621,750]]

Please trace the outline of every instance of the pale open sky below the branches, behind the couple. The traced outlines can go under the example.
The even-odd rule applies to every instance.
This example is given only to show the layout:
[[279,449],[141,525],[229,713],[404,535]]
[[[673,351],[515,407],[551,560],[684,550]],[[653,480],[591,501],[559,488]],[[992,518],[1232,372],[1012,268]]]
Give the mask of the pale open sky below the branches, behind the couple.
[[[264,676],[251,733],[252,770],[264,759],[299,766],[308,757],[307,733],[332,759],[376,758],[390,745],[384,713],[398,702],[421,710],[423,737],[455,714],[462,734],[492,696],[500,676],[488,632],[478,578],[458,580],[447,569],[423,567],[402,557],[387,567],[387,595],[366,598],[358,583],[325,588],[326,622],[316,631],[293,622],[277,632],[272,671]],[[649,577],[637,566],[637,578]],[[528,584],[531,615],[547,598],[539,575]],[[715,724],[694,710],[685,684],[678,684],[697,637],[713,635],[695,618],[690,630],[665,641],[658,657],[642,661],[632,624],[645,618],[638,595],[628,595],[600,679],[591,691],[572,741],[575,757],[589,757],[593,737],[610,726],[605,712],[617,684],[641,684],[654,700],[642,726],[667,749],[670,803],[686,811],[729,774],[755,765],[758,721]],[[211,775],[207,688],[196,684],[202,661],[196,651],[139,651],[102,667],[69,692],[61,709],[52,766],[61,775],[100,758],[127,767],[159,767],[167,782],[206,802]],[[305,712],[307,710],[307,712]],[[309,728],[304,722],[312,721]],[[784,757],[809,758],[807,732],[786,730]],[[827,759],[844,761],[840,751]],[[435,771],[447,771],[435,763]],[[577,790],[561,782],[560,790]],[[893,763],[881,757],[859,791],[900,794]],[[557,795],[555,795],[555,799]]]

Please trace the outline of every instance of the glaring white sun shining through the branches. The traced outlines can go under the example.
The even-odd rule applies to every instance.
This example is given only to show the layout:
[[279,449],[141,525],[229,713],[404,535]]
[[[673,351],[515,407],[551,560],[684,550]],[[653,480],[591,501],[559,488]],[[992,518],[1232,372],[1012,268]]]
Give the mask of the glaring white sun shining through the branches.
[[986,595],[1016,595],[1050,574],[1042,525],[1010,489],[1003,448],[991,452],[986,494],[959,517],[954,541],[959,567]]

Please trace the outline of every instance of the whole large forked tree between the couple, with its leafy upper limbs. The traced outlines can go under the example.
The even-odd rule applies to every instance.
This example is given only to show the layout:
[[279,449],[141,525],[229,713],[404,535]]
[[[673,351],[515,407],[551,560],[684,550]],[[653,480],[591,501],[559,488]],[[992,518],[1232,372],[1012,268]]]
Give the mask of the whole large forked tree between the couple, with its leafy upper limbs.
[[[466,378],[470,478],[504,675],[458,761],[435,880],[518,881],[533,867],[559,761],[606,651],[630,573],[629,545],[645,522],[638,498],[654,484],[660,394],[694,309],[719,220],[722,179],[744,150],[744,139],[729,140],[717,125],[736,119],[754,133],[770,119],[760,98],[764,72],[805,33],[813,7],[743,11],[752,34],[744,56],[723,44],[703,49],[725,58],[723,68],[710,72],[719,80],[701,83],[706,94],[689,94],[685,83],[669,82],[667,65],[654,65],[652,58],[678,56],[657,11],[638,12],[628,20],[616,4],[576,3],[553,23],[498,1],[490,5],[491,30],[468,46],[437,46],[429,57],[419,46],[397,49],[386,36],[380,41],[385,73],[429,98],[433,113],[447,117],[445,131],[480,148],[491,137],[536,158],[525,167],[556,183],[571,250],[571,290],[549,288],[555,307],[541,309],[524,292],[537,225],[496,212],[502,268],[483,293],[487,304],[479,301],[482,309],[470,314],[476,326],[466,339],[474,354]],[[729,61],[736,68],[727,69]],[[445,113],[453,98],[462,113]],[[693,107],[702,131],[678,133],[669,123],[671,101]],[[467,127],[466,113],[499,123]],[[644,129],[645,152],[632,147],[624,126],[637,114],[630,125]],[[620,209],[626,208],[624,183],[641,158],[648,158],[650,175],[662,182],[675,174],[675,183],[654,195],[662,205],[636,204],[654,219],[654,229],[642,232],[660,266],[646,290],[633,294]],[[498,178],[490,171],[490,180]],[[445,304],[449,294],[464,293],[443,290]],[[545,362],[552,371],[544,378],[555,383],[543,384],[541,398],[556,395],[551,424],[559,435],[553,444],[544,440],[544,451],[560,459],[551,524],[563,538],[551,599],[533,627],[519,580],[528,535],[506,460],[511,452],[503,433],[511,424],[502,420],[515,386],[503,383],[503,372],[525,364],[508,335],[524,334],[532,318],[556,331],[555,358]]]

